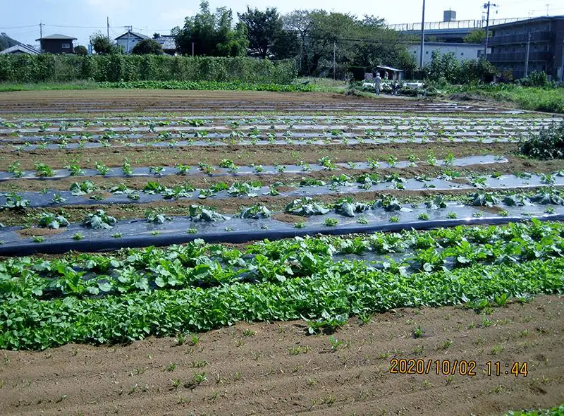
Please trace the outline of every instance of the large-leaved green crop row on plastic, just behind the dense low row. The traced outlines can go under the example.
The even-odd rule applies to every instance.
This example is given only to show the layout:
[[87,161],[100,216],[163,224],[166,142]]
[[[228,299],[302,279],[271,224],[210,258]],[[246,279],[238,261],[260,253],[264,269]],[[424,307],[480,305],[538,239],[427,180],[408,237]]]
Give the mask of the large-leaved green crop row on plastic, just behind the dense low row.
[[[511,264],[564,255],[560,224],[441,229],[427,233],[375,233],[356,238],[295,238],[251,245],[245,252],[195,240],[166,249],[129,249],[120,257],[79,255],[46,261],[30,258],[0,263],[0,300],[61,296],[122,295],[135,291],[219,286],[237,282],[283,283],[324,274],[333,256],[403,252],[384,268],[405,274],[475,264]],[[359,257],[360,260],[360,257]],[[354,264],[354,263],[353,263]]]

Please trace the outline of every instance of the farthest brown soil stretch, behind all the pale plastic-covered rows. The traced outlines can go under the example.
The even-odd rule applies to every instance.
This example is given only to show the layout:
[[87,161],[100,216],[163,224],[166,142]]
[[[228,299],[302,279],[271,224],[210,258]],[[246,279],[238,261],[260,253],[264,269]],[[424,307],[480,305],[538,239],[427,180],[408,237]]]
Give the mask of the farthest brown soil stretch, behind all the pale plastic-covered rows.
[[[212,113],[234,111],[467,111],[456,103],[436,106],[434,100],[378,99],[330,92],[184,91],[184,90],[66,90],[2,92],[0,113],[131,113],[139,111]],[[467,104],[464,104],[467,105]],[[476,111],[477,108],[471,110]],[[492,113],[498,109],[491,109]]]

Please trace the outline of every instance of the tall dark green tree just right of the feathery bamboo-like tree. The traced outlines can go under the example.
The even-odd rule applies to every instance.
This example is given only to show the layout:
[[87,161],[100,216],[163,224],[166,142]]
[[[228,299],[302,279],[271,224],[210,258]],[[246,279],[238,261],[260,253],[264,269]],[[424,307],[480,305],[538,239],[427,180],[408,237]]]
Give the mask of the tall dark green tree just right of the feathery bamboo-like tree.
[[245,23],[248,31],[250,55],[260,56],[262,59],[273,54],[276,37],[282,31],[282,19],[276,8],[266,8],[260,11],[247,6],[245,13],[238,13],[239,20]]

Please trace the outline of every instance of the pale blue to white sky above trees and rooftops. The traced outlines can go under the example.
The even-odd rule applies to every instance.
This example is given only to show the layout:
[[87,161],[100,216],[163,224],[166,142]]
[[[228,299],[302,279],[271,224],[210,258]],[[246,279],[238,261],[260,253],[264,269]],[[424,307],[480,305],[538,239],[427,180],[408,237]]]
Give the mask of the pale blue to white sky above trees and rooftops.
[[[289,13],[302,8],[323,8],[326,11],[364,14],[386,19],[388,23],[415,23],[422,17],[422,0],[391,1],[338,1],[338,0],[285,0],[278,4],[265,0],[210,0],[214,10],[226,6],[242,13],[247,6],[264,10],[275,6],[279,13]],[[561,0],[499,0],[491,7],[490,18],[517,18],[564,15]],[[151,36],[154,32],[168,35],[172,27],[183,26],[186,16],[193,16],[200,1],[182,0],[2,0],[0,32],[26,44],[38,45],[39,23],[43,23],[43,35],[59,33],[77,37],[75,45],[89,42],[97,30],[106,33],[106,17],[110,23],[110,37],[126,32],[125,26],[133,26],[135,32]],[[425,21],[443,19],[443,11],[452,9],[457,20],[482,19],[484,1],[479,0],[427,0]]]

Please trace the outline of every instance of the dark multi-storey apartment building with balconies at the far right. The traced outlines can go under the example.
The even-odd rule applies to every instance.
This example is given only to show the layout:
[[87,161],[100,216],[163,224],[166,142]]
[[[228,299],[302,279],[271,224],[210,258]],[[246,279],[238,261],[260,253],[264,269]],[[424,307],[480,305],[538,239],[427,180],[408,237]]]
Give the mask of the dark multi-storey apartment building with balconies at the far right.
[[550,79],[564,80],[564,16],[494,25],[490,30],[488,61],[498,71],[513,71],[515,79],[544,71]]

